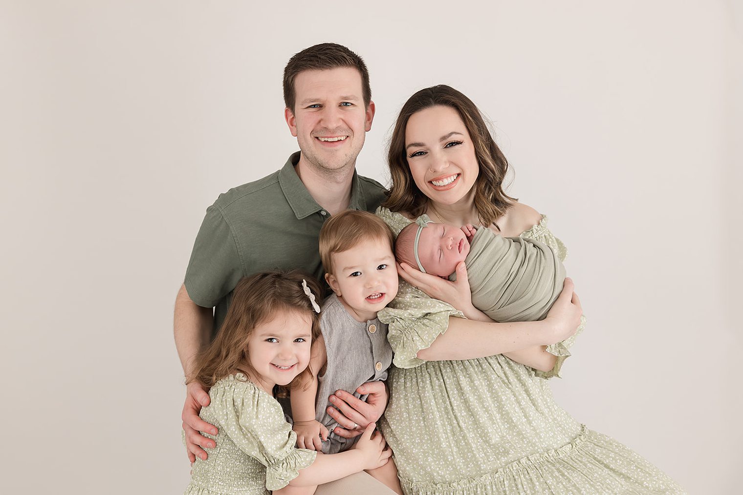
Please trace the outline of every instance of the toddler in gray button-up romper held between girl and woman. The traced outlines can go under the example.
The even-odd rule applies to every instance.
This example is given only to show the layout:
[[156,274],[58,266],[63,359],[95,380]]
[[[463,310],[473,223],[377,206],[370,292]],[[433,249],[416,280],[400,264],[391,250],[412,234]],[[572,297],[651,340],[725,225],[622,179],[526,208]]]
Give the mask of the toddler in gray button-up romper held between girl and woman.
[[[377,311],[398,294],[393,243],[386,223],[369,212],[346,210],[320,230],[325,281],[334,294],[322,306],[322,333],[312,345],[310,366],[318,373],[291,387],[291,416],[300,448],[323,453],[351,448],[358,437],[345,439],[334,433],[335,427],[343,425],[328,414],[332,405],[328,397],[337,390],[357,390],[367,381],[387,378],[392,347],[387,325],[379,321]],[[354,396],[366,400],[358,391]],[[353,429],[357,427],[354,424]],[[392,459],[367,472],[402,494]]]

